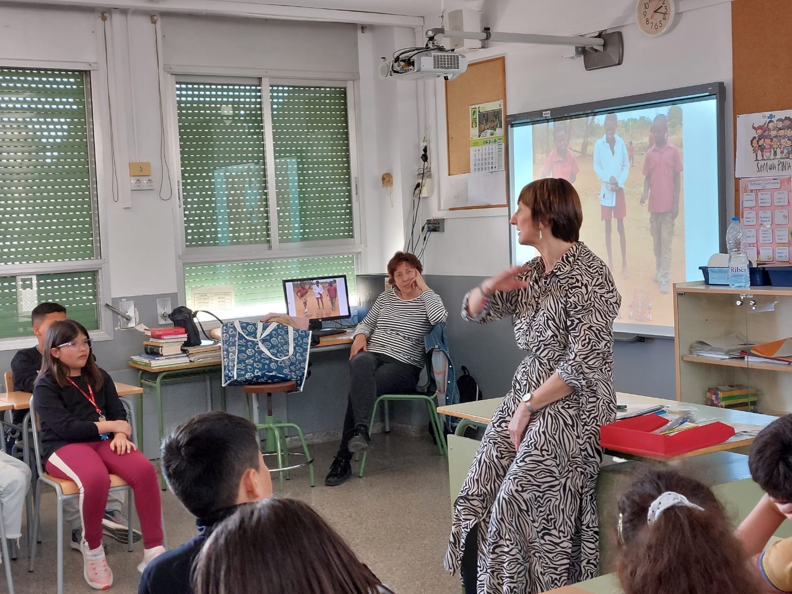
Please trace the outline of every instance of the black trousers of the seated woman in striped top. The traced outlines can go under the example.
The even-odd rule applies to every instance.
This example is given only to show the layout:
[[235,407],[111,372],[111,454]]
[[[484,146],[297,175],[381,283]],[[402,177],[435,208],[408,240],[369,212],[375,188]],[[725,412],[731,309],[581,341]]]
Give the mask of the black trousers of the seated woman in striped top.
[[410,394],[416,390],[421,368],[403,363],[379,352],[361,351],[349,361],[352,384],[347,398],[347,412],[341,447],[338,455],[352,458],[348,450],[349,440],[355,435],[356,425],[368,427],[371,410],[377,398],[383,394]]

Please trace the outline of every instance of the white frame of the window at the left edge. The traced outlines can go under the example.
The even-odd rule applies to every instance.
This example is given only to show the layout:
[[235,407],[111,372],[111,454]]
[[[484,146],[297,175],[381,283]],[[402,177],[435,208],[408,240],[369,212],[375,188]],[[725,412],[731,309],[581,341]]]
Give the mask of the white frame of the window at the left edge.
[[[113,337],[112,312],[104,307],[109,303],[110,265],[106,257],[109,246],[107,209],[103,201],[111,196],[108,191],[112,183],[112,160],[106,154],[109,147],[109,127],[105,127],[108,110],[107,89],[101,89],[105,77],[104,66],[86,62],[42,62],[38,60],[4,59],[0,66],[17,70],[60,70],[80,71],[85,76],[86,88],[86,133],[88,135],[88,166],[91,187],[91,221],[93,224],[93,258],[63,262],[39,262],[32,264],[0,264],[0,276],[35,276],[44,274],[63,274],[68,272],[96,272],[97,274],[97,322],[98,329],[91,331],[94,341],[109,341]],[[97,83],[98,82],[98,83]],[[108,116],[109,121],[109,116]],[[109,164],[109,166],[108,166]],[[28,348],[33,337],[32,327],[29,337],[0,337],[0,352]]]

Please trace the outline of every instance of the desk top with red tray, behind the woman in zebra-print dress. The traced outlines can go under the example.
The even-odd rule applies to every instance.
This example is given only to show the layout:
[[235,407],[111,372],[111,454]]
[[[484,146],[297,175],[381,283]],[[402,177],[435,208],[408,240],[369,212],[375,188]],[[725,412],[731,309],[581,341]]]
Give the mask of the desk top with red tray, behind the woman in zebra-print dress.
[[[627,406],[627,410],[645,409],[649,406],[654,406],[657,404],[672,408],[674,406],[694,406],[697,409],[697,416],[699,420],[717,418],[718,421],[722,421],[727,425],[760,425],[764,427],[775,421],[775,417],[767,414],[746,413],[743,410],[719,409],[717,406],[692,404],[690,402],[678,402],[676,400],[667,400],[665,398],[651,398],[649,396],[626,394],[623,392],[616,393],[616,400],[619,402],[619,404],[625,404]],[[437,412],[440,414],[451,415],[452,417],[468,419],[470,421],[478,421],[479,423],[489,423],[493,413],[495,413],[495,409],[497,409],[502,401],[503,398],[489,398],[488,400],[479,400],[478,402],[465,402],[464,404],[439,406],[437,408]],[[668,462],[671,460],[690,458],[691,456],[710,454],[714,451],[736,450],[740,447],[751,445],[753,440],[753,436],[738,433],[737,435],[730,437],[728,440],[725,440],[722,444],[703,447],[700,450],[689,451],[687,454],[674,456],[673,458],[664,458],[662,456],[640,456],[640,458],[651,458],[660,460],[661,462]],[[612,452],[619,454],[618,451]]]

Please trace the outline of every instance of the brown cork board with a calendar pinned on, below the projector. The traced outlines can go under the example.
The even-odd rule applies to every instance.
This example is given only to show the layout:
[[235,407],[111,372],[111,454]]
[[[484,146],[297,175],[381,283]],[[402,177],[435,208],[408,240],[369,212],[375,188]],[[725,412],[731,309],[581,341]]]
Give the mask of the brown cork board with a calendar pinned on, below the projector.
[[[452,81],[446,81],[445,94],[448,175],[470,173],[470,105],[504,101],[504,114],[507,113],[505,57],[469,64],[464,74]],[[492,204],[485,208],[504,206],[506,204]]]

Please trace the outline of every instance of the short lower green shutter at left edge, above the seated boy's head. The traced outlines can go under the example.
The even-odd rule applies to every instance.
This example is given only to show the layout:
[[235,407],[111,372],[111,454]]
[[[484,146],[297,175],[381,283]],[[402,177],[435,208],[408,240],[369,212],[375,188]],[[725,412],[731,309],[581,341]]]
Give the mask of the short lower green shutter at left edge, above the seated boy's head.
[[97,272],[0,276],[0,338],[32,337],[30,312],[44,301],[60,303],[88,330],[99,328]]

